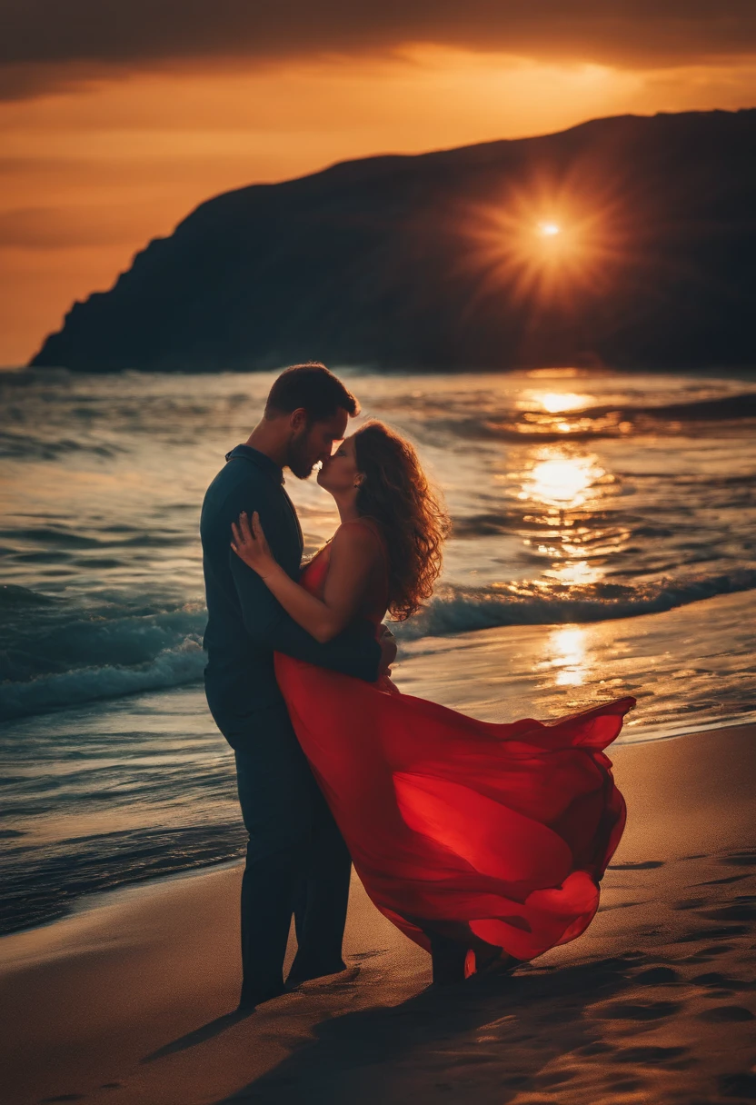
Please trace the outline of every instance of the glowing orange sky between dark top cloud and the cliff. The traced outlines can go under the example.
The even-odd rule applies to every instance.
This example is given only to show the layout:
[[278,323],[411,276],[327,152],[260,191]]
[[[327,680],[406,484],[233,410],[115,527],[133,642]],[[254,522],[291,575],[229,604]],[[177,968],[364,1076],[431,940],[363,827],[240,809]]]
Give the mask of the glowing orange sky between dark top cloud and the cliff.
[[756,51],[727,50],[645,64],[598,48],[559,57],[553,42],[542,57],[444,42],[46,71],[36,60],[29,87],[14,62],[0,99],[0,365],[24,362],[74,298],[109,287],[135,250],[212,194],[603,115],[753,106]]

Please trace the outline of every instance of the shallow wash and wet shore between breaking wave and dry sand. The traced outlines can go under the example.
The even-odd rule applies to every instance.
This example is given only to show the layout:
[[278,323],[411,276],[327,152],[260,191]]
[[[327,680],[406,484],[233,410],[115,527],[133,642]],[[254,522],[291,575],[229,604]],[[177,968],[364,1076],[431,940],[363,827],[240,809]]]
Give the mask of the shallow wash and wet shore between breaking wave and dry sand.
[[[756,591],[642,618],[428,636],[402,643],[395,681],[490,722],[633,695],[615,747],[650,743],[756,718],[752,614]],[[4,736],[13,829],[0,863],[2,932],[66,916],[87,894],[243,854],[232,753],[201,684],[32,715]]]

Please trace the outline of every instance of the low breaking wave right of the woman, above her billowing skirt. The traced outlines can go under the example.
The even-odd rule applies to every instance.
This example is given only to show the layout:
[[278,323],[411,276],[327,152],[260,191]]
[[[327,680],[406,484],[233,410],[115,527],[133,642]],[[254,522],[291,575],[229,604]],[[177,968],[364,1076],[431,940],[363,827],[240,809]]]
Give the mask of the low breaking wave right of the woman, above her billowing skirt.
[[661,613],[717,594],[756,588],[756,570],[666,579],[654,583],[582,586],[506,583],[489,588],[441,588],[410,621],[395,628],[405,641],[502,625],[550,625],[611,621]]

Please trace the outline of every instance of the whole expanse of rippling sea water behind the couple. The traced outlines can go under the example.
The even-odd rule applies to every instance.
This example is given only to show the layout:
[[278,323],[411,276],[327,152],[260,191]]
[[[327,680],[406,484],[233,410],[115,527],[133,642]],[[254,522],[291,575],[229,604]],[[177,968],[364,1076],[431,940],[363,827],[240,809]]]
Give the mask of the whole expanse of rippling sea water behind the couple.
[[[629,740],[756,716],[754,375],[343,375],[454,523],[400,686],[501,720],[634,694]],[[0,930],[240,853],[197,527],[271,379],[0,375]],[[312,551],[332,501],[287,490]]]

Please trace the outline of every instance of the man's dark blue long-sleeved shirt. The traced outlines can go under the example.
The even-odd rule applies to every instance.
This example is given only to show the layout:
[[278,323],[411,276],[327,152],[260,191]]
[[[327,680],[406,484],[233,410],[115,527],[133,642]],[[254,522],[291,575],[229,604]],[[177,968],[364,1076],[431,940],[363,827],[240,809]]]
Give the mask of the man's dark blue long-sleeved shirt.
[[[374,682],[380,646],[367,621],[356,622],[319,644],[288,617],[258,573],[231,548],[231,523],[246,511],[260,520],[273,556],[298,579],[302,530],[283,485],[281,469],[250,445],[237,445],[208,487],[200,533],[208,601],[204,685],[210,711],[232,744],[264,717],[282,716],[273,653],[284,652],[318,667]],[[267,713],[270,712],[270,713]]]

